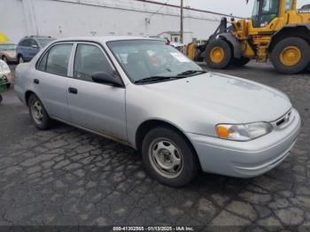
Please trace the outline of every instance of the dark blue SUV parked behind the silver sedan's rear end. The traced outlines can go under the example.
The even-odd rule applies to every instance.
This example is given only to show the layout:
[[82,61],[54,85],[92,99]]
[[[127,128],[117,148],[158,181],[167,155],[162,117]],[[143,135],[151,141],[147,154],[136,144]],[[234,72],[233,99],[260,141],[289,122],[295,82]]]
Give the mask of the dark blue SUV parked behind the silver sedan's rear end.
[[16,48],[19,63],[30,61],[40,50],[54,40],[55,38],[51,38],[50,36],[36,35],[26,36],[21,39]]

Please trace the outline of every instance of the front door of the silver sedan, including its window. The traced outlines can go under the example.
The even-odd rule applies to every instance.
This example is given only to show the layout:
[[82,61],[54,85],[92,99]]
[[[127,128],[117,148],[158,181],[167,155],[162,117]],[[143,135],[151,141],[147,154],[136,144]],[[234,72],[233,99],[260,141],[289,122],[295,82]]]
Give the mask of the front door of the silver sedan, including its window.
[[116,72],[105,50],[96,43],[77,43],[68,104],[74,124],[127,140],[125,89],[94,82],[91,74]]

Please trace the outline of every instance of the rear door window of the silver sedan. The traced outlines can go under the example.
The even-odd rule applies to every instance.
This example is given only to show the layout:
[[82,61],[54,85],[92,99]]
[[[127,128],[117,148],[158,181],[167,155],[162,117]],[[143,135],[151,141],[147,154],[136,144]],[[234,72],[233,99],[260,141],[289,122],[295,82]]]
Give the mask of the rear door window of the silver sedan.
[[58,44],[50,48],[40,61],[38,70],[66,76],[73,44]]

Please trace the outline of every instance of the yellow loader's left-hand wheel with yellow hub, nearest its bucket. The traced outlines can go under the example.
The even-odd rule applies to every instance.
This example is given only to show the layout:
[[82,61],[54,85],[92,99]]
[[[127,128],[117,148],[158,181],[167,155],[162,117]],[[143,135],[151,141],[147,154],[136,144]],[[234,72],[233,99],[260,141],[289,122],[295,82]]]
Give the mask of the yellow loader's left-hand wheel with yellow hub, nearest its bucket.
[[232,50],[229,43],[217,39],[206,46],[205,62],[214,69],[224,69],[230,65],[232,59]]

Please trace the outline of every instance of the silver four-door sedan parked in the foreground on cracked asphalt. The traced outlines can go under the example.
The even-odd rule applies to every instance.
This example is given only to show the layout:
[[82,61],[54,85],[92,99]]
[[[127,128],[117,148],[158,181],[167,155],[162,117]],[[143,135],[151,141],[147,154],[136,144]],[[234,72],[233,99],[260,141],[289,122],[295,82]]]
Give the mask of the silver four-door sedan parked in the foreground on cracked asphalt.
[[162,42],[90,37],[51,43],[17,66],[14,89],[35,126],[52,120],[125,143],[170,186],[200,168],[264,174],[296,142],[300,117],[283,92],[200,66]]

